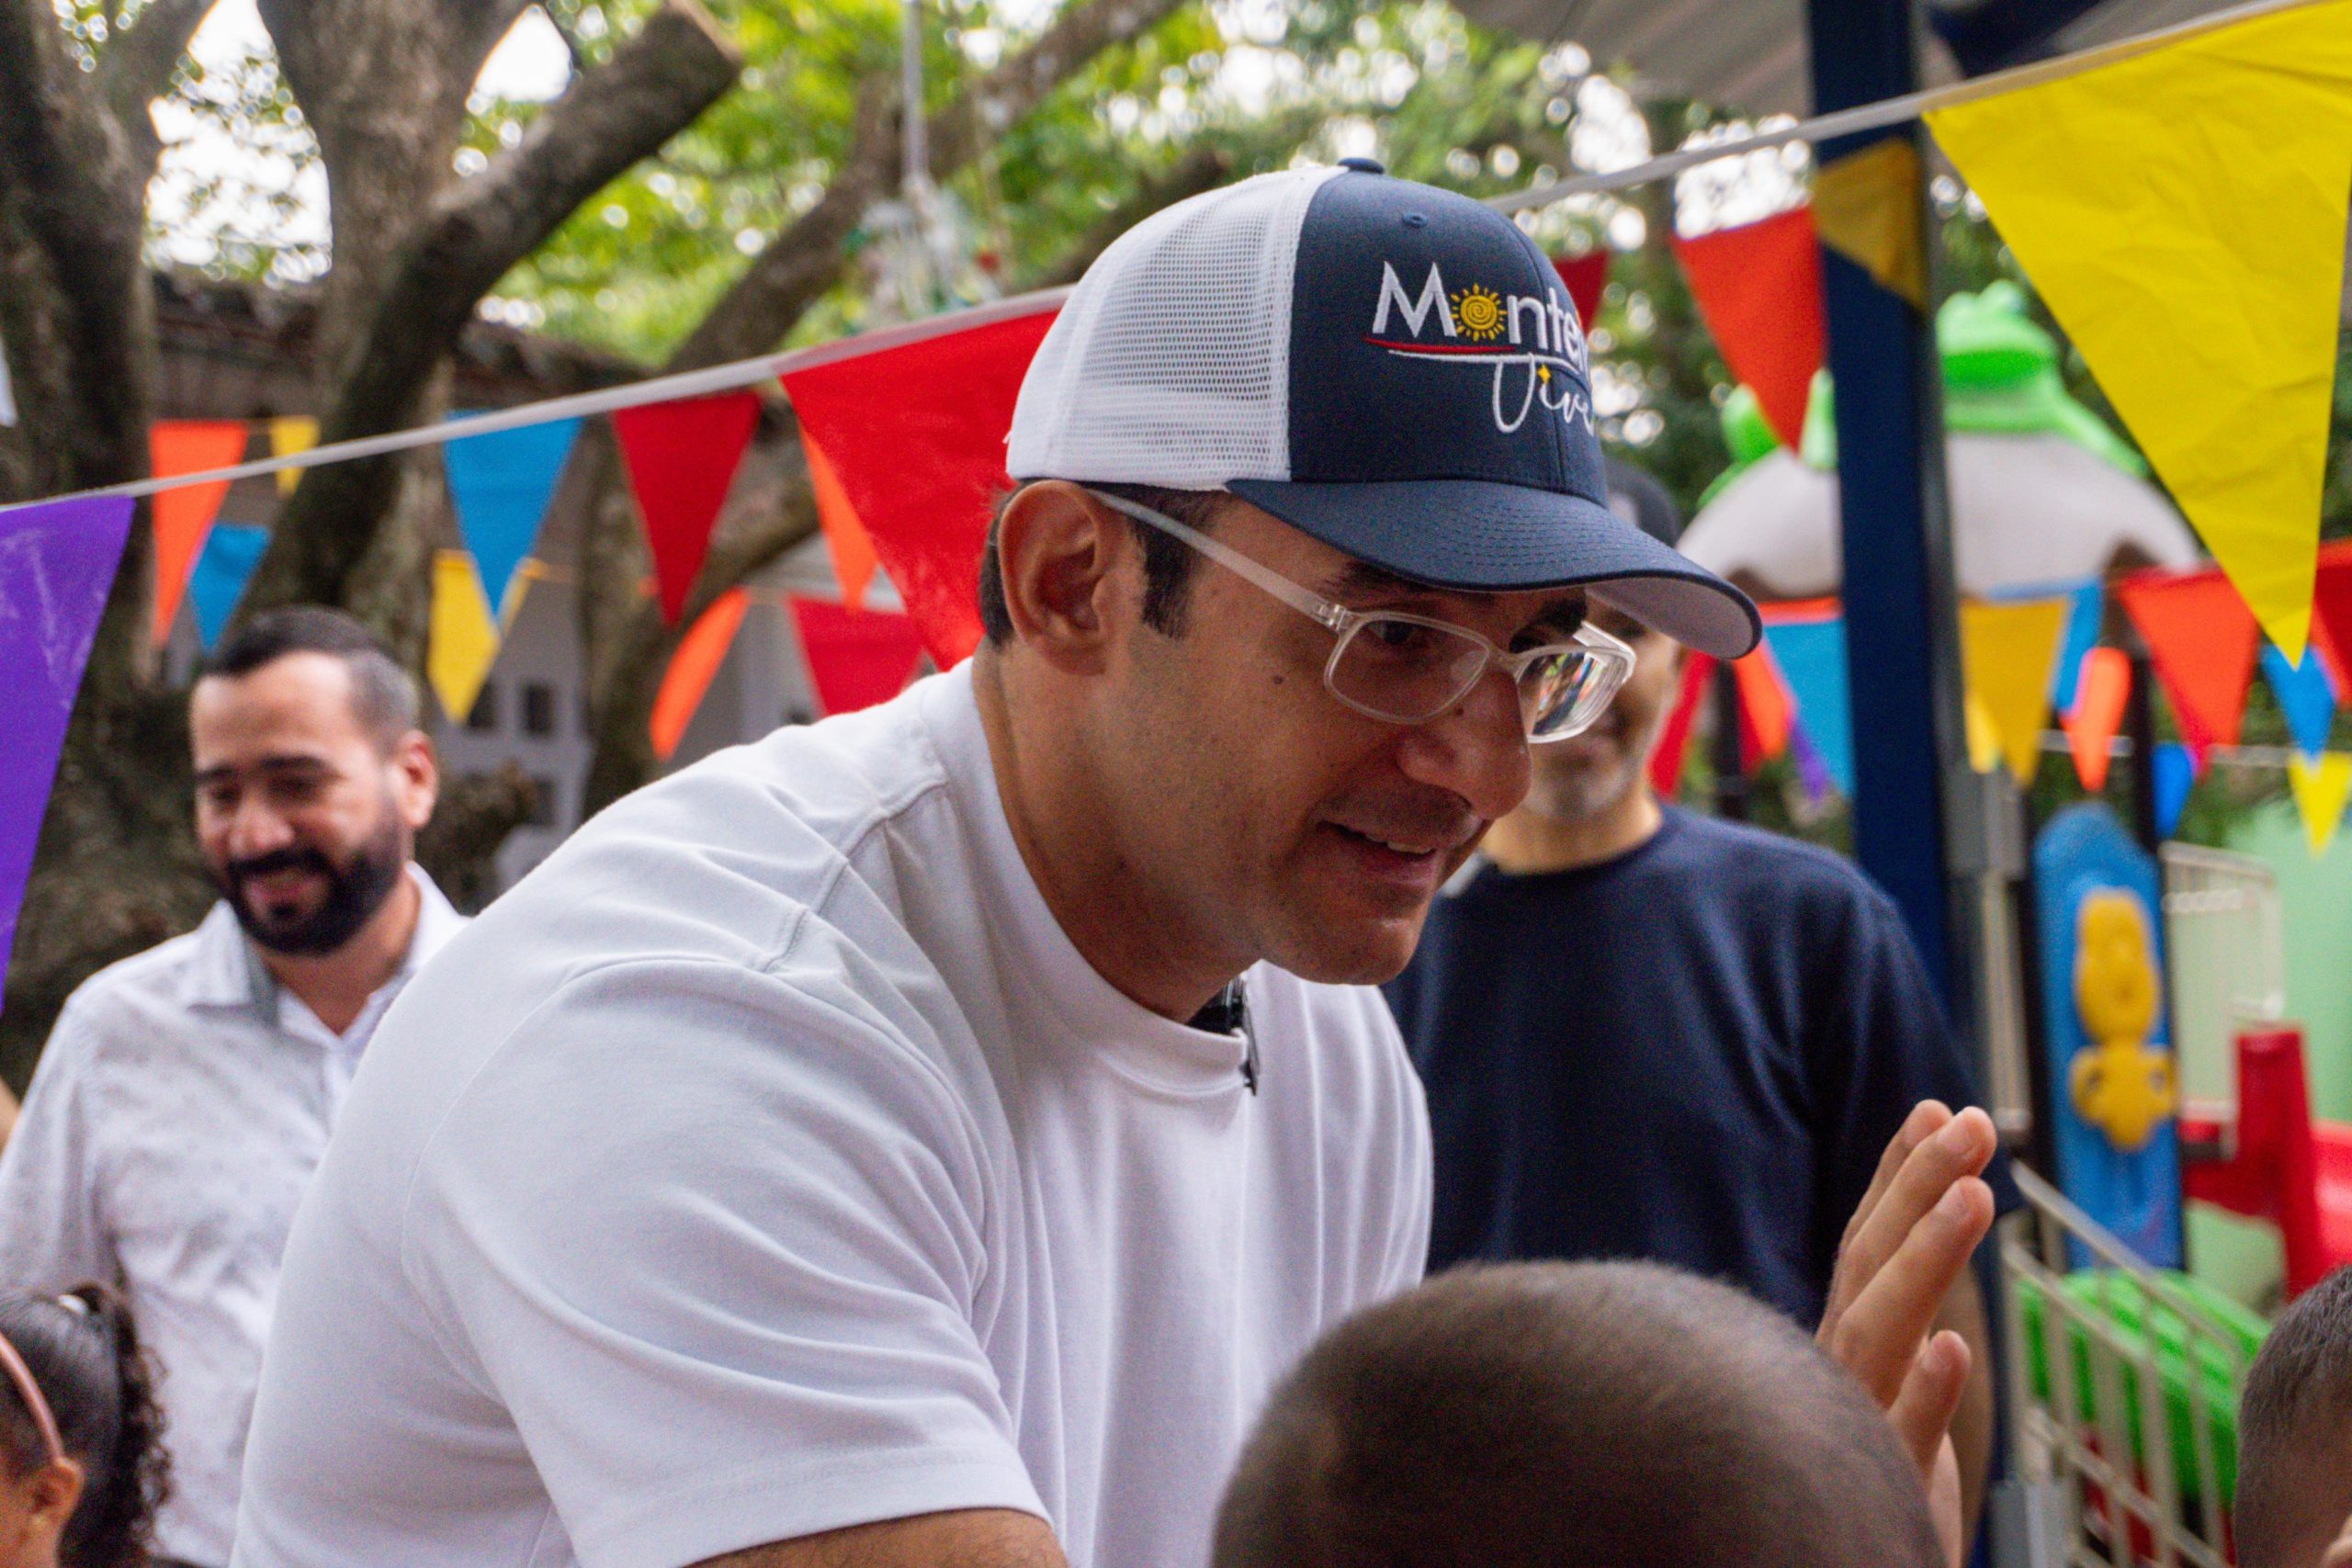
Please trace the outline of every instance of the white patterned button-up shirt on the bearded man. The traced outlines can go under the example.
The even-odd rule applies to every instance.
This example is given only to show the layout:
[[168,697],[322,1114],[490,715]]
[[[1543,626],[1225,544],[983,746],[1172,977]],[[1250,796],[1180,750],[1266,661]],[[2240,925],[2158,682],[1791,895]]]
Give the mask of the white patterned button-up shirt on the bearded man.
[[226,1563],[294,1206],[383,1009],[466,919],[416,870],[400,971],[336,1034],[226,903],[66,1001],[0,1154],[0,1288],[122,1288],[162,1371],[165,1556]]

